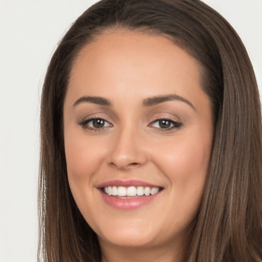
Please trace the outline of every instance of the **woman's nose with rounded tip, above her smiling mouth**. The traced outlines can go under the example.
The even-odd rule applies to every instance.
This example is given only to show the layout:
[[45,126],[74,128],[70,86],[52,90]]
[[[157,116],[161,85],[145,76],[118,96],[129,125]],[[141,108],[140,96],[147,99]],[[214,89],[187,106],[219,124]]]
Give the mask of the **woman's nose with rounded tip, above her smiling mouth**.
[[115,134],[107,163],[119,169],[130,169],[144,165],[148,161],[143,138],[134,129],[126,128]]

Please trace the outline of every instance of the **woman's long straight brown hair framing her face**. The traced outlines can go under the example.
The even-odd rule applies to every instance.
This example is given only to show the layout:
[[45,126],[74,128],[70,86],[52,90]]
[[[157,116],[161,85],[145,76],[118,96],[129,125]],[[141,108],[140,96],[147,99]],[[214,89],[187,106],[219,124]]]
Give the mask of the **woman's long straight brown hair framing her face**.
[[202,86],[212,102],[215,131],[186,261],[261,262],[262,128],[255,75],[233,28],[198,0],[103,0],[86,10],[59,42],[41,100],[38,260],[101,260],[96,234],[69,188],[62,111],[79,51],[114,28],[164,35],[202,65]]

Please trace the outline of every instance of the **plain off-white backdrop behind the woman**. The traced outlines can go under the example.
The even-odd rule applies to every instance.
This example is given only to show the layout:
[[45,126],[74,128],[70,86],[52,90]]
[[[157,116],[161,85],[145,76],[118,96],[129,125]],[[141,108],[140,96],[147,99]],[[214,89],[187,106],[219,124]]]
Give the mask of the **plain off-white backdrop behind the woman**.
[[[48,62],[96,1],[0,0],[0,262],[37,252],[39,98]],[[262,0],[205,0],[243,39],[262,89]]]

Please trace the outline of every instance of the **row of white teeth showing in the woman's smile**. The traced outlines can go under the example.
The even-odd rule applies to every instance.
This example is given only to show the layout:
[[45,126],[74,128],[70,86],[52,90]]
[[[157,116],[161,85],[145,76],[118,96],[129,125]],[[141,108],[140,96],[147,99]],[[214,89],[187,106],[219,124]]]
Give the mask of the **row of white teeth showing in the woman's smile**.
[[143,195],[154,195],[161,191],[161,187],[144,187],[144,186],[107,186],[103,187],[103,193],[121,199],[137,198]]

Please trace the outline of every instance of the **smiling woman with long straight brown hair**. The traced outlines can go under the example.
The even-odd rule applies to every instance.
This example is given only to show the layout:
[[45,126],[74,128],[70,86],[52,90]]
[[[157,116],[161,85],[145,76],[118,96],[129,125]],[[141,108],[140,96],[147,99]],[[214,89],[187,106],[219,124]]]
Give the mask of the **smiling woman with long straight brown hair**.
[[98,2],[43,86],[43,260],[262,261],[261,148],[252,65],[224,18]]

